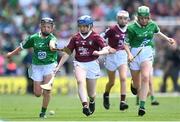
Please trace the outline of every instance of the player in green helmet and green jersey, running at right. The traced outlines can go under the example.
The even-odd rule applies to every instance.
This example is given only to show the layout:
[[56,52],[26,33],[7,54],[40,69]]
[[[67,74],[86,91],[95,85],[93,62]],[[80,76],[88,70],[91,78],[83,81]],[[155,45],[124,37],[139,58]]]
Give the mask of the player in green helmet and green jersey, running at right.
[[147,6],[140,6],[137,10],[137,21],[128,25],[126,42],[131,47],[133,56],[137,55],[130,63],[133,83],[131,90],[138,91],[140,105],[138,115],[145,114],[145,101],[149,92],[149,78],[153,61],[154,35],[173,44],[175,41],[160,32],[158,25],[150,18],[150,9]]

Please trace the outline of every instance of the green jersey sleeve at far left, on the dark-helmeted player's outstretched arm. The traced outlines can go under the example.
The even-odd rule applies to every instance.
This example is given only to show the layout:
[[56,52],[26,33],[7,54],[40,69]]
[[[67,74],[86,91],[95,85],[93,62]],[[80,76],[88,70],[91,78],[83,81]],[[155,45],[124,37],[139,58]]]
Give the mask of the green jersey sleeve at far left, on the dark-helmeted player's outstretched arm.
[[34,45],[34,40],[32,36],[27,37],[24,41],[20,43],[22,49],[31,48]]

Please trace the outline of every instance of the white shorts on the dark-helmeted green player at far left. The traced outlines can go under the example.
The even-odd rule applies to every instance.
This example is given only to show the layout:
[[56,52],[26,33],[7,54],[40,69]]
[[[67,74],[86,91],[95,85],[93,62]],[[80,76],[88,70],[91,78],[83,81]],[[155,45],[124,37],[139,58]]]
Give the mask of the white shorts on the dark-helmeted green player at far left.
[[28,70],[29,77],[37,82],[42,82],[43,77],[53,73],[57,63],[47,65],[34,65],[32,64]]

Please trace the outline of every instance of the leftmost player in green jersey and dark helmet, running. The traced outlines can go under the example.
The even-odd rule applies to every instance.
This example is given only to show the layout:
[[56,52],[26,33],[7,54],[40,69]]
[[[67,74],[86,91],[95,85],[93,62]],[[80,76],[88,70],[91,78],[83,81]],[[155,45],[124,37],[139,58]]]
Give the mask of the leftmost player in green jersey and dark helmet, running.
[[22,49],[33,48],[32,66],[29,68],[29,77],[34,81],[34,94],[36,97],[43,95],[40,118],[46,118],[46,110],[50,101],[51,91],[41,89],[41,84],[46,84],[52,77],[53,69],[57,65],[56,37],[52,34],[55,28],[52,18],[42,18],[40,32],[30,35],[20,46],[7,53],[9,58],[18,54]]

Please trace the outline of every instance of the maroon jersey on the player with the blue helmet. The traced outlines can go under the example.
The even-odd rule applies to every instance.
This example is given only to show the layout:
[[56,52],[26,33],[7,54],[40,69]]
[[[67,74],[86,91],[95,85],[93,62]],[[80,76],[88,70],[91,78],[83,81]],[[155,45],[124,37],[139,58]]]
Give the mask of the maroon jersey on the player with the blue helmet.
[[89,62],[98,58],[98,56],[92,55],[93,51],[103,48],[105,43],[103,39],[95,32],[83,38],[80,33],[74,35],[67,48],[73,52],[75,50],[75,59],[79,62]]

